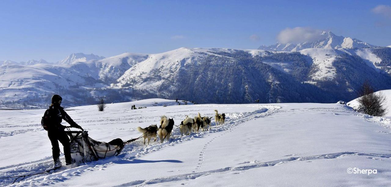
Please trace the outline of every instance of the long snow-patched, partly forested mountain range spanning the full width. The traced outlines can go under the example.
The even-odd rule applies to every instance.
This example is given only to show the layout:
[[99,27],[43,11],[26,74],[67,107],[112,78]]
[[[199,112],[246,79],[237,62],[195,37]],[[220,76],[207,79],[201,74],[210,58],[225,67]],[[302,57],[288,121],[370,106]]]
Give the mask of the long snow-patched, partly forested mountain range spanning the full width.
[[0,66],[0,107],[45,107],[55,93],[64,95],[68,106],[95,104],[98,97],[108,102],[156,97],[197,103],[349,101],[365,79],[375,89],[391,88],[390,59],[391,48],[179,48],[72,64],[8,62]]

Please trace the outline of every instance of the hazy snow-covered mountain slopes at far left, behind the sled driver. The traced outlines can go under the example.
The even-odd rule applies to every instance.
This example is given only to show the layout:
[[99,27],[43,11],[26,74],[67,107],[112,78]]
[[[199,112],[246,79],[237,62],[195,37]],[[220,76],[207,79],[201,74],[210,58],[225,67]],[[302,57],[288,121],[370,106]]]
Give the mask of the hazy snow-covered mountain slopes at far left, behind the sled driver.
[[93,103],[95,99],[91,97],[97,96],[90,92],[109,87],[147,56],[124,53],[74,64],[1,65],[0,106],[7,102],[6,107],[42,107],[54,93],[63,95],[72,106],[86,101]]

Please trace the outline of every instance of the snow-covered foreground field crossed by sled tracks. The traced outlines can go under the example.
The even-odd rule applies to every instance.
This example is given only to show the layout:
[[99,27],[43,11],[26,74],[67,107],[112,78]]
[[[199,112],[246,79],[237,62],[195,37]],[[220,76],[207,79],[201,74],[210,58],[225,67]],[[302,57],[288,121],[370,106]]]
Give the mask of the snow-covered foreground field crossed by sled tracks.
[[[160,106],[152,106],[154,101]],[[131,110],[131,106],[147,108]],[[166,104],[167,107],[162,105]],[[67,109],[98,141],[141,135],[136,127],[175,124],[186,115],[212,118],[210,131],[170,142],[126,145],[117,157],[65,166],[49,175],[0,179],[2,186],[389,186],[391,122],[355,113],[341,104],[199,104],[148,99]],[[226,113],[216,127],[214,109]],[[39,173],[52,165],[51,145],[40,119],[45,110],[0,110],[0,178]],[[63,123],[64,124],[64,123]],[[61,147],[61,146],[60,146]],[[61,150],[62,151],[62,150]],[[60,159],[64,161],[63,155]],[[376,169],[349,174],[348,168]],[[367,170],[368,171],[368,170]]]

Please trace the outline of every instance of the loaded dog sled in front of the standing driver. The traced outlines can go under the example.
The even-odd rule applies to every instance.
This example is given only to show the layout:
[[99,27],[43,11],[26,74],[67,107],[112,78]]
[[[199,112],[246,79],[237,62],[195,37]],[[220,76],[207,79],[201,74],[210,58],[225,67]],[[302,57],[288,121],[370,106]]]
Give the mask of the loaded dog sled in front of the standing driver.
[[75,163],[96,161],[121,153],[125,144],[122,139],[101,142],[88,137],[88,131],[65,131],[70,137],[70,152]]

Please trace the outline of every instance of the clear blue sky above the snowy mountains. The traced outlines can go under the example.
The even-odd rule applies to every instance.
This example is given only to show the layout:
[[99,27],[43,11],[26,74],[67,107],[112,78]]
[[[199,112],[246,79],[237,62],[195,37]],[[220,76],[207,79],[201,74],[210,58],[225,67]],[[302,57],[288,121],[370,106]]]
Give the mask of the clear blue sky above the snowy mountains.
[[391,2],[2,0],[0,25],[0,60],[18,62],[57,62],[78,52],[108,57],[180,47],[256,49],[294,27],[388,46]]

